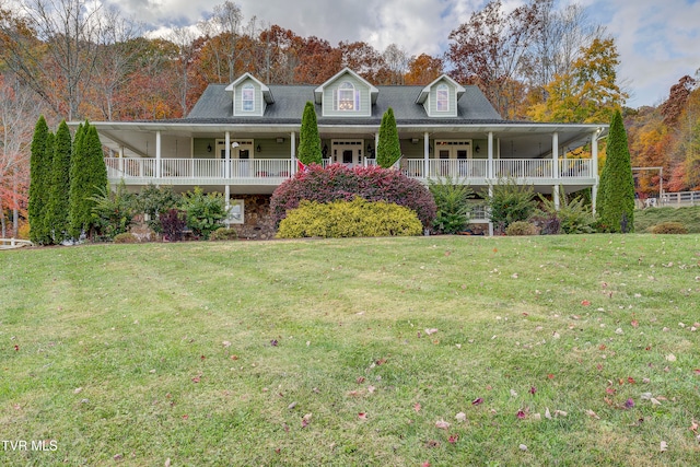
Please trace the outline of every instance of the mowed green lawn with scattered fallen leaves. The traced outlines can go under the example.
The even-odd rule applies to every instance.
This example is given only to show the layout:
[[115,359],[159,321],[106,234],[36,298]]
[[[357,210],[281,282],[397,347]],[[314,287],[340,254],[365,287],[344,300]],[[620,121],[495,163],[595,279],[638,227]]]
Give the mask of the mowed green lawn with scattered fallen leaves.
[[696,465],[699,264],[697,235],[4,252],[0,464]]

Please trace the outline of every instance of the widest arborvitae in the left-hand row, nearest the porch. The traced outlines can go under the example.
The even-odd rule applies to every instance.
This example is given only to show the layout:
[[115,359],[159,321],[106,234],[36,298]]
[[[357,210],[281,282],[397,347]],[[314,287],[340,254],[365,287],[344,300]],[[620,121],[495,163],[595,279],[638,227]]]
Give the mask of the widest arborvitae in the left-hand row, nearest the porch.
[[96,225],[93,198],[106,191],[107,167],[97,129],[88,121],[75,135],[70,167],[70,234],[73,238],[92,234]]

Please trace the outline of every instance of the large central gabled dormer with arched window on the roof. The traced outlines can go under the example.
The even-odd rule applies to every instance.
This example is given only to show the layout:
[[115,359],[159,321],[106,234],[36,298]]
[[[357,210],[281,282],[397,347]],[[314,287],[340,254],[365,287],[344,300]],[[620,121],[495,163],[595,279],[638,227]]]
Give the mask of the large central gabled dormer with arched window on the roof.
[[349,68],[316,87],[324,117],[370,117],[380,91]]

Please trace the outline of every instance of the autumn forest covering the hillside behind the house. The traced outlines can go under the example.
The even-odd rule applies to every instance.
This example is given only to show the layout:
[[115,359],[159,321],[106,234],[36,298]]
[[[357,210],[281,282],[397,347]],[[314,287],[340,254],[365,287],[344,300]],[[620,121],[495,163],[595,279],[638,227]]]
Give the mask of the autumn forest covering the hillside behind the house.
[[[15,7],[13,7],[15,5]],[[19,5],[19,7],[16,7]],[[30,144],[44,115],[61,120],[186,116],[210,83],[250,72],[268,84],[320,84],[343,67],[375,85],[424,85],[442,73],[476,84],[506,119],[609,122],[622,109],[640,196],[700,189],[699,78],[679,77],[656,107],[629,108],[614,34],[580,3],[490,1],[450,33],[440,56],[396,44],[331,45],[225,0],[191,27],[153,37],[137,20],[86,0],[0,3],[0,220],[26,209]],[[700,63],[699,63],[700,66]]]

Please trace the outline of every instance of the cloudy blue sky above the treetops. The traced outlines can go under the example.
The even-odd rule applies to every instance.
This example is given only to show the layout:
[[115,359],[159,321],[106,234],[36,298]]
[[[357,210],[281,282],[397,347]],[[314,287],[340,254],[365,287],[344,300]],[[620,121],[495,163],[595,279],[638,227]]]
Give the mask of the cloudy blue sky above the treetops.
[[[522,0],[502,0],[506,9]],[[558,0],[567,4],[572,0]],[[106,0],[152,28],[195,24],[223,0]],[[337,45],[364,40],[377,50],[399,45],[409,56],[439,55],[447,36],[485,0],[234,0],[245,21],[277,24],[301,36]],[[630,91],[628,105],[657,105],[669,87],[700,68],[700,1],[578,0],[591,21],[604,25],[620,55],[619,78]]]

